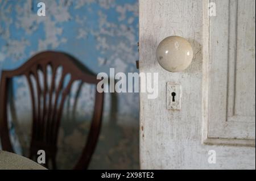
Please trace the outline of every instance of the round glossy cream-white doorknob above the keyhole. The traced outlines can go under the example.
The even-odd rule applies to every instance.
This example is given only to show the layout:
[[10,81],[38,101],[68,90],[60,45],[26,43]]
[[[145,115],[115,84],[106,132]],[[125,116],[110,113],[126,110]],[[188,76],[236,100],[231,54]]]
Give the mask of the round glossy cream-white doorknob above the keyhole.
[[168,36],[159,43],[156,58],[167,71],[182,71],[191,64],[193,50],[191,44],[183,37]]

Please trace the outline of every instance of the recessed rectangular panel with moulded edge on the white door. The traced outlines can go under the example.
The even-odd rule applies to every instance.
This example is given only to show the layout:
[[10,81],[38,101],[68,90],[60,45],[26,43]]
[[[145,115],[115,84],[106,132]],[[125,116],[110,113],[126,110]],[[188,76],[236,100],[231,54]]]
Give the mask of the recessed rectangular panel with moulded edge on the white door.
[[[215,1],[209,19],[205,143],[255,146],[255,1]],[[218,140],[214,140],[218,139]]]

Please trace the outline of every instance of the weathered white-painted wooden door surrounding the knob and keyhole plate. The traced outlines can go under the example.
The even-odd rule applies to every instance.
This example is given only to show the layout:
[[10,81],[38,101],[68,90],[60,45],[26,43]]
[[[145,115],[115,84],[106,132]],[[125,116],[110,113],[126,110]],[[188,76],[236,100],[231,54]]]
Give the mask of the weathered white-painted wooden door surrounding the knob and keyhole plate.
[[[156,60],[171,35],[194,52],[180,73]],[[255,169],[254,0],[140,0],[139,61],[159,74],[158,98],[140,95],[141,169]],[[167,110],[167,82],[181,110]]]

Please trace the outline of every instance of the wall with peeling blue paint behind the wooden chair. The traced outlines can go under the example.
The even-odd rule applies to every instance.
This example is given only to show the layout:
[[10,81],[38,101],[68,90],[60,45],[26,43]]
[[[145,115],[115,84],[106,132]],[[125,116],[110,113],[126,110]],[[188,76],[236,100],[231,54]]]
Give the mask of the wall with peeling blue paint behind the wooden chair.
[[[39,2],[45,3],[46,16],[37,15]],[[96,74],[109,74],[109,68],[136,72],[137,42],[136,0],[0,0],[0,71],[18,68],[43,50],[58,50],[76,57]],[[74,83],[61,122],[59,169],[72,168],[88,133],[94,88],[82,86],[72,113],[77,86]],[[16,153],[26,155],[31,102],[23,77],[14,79],[12,99],[11,140]],[[101,134],[89,169],[138,169],[138,134],[138,93],[120,93],[114,99],[107,93]]]

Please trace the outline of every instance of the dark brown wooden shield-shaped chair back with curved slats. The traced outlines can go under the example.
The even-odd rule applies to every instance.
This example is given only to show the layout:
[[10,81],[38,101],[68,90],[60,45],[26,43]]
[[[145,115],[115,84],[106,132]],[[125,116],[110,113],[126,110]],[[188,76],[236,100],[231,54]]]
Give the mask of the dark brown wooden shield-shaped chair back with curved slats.
[[[51,83],[47,82],[47,67],[52,69]],[[55,85],[57,68],[62,67],[59,85]],[[39,79],[38,70],[43,73],[43,81]],[[70,75],[67,83],[64,83],[65,76]],[[2,149],[13,152],[10,142],[9,128],[7,124],[7,87],[11,78],[25,75],[30,89],[32,100],[32,137],[30,144],[30,158],[37,155],[38,150],[46,151],[46,167],[52,162],[53,169],[56,169],[57,136],[60,127],[61,115],[65,98],[71,90],[74,81],[81,81],[97,86],[96,75],[90,73],[75,58],[61,52],[42,52],[30,58],[26,63],[15,70],[3,70],[0,83],[0,137]],[[36,86],[32,85],[34,77]],[[41,85],[43,86],[40,86]],[[35,94],[36,93],[36,94]],[[53,96],[53,94],[55,96]],[[96,89],[94,111],[90,130],[85,146],[79,161],[74,169],[87,169],[90,158],[97,144],[101,128],[104,93]]]

